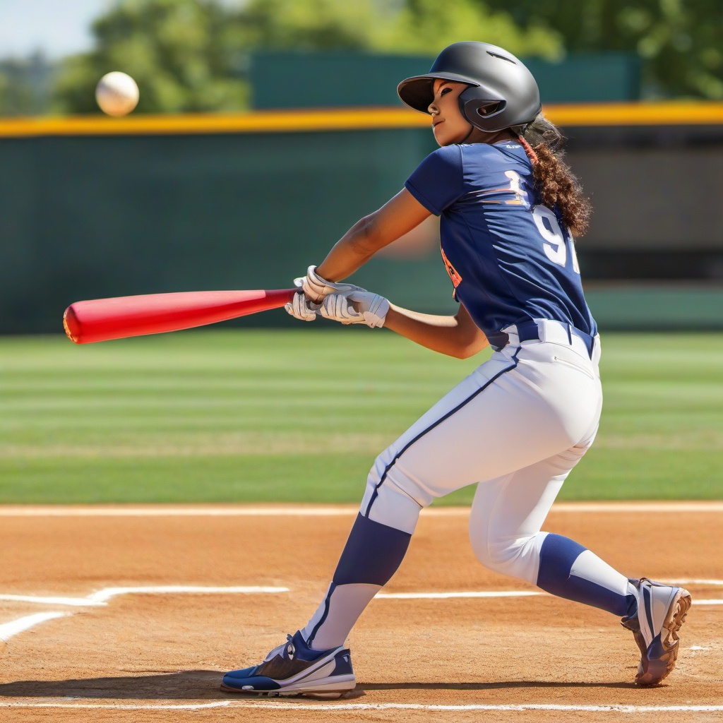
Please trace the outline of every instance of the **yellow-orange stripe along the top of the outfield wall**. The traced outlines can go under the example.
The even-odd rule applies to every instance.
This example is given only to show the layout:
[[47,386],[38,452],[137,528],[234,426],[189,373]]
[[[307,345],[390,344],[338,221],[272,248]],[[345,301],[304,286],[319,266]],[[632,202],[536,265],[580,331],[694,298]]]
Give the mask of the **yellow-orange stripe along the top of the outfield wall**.
[[[555,124],[570,126],[723,124],[723,103],[585,103],[545,106]],[[0,137],[289,133],[429,127],[409,108],[329,108],[237,114],[136,114],[124,118],[66,116],[0,119]]]

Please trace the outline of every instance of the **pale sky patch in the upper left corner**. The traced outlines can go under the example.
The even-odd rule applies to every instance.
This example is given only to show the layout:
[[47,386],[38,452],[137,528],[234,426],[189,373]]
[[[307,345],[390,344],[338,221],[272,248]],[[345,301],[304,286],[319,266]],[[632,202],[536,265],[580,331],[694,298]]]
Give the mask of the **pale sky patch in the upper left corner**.
[[112,0],[0,0],[0,58],[50,58],[90,48],[90,23]]

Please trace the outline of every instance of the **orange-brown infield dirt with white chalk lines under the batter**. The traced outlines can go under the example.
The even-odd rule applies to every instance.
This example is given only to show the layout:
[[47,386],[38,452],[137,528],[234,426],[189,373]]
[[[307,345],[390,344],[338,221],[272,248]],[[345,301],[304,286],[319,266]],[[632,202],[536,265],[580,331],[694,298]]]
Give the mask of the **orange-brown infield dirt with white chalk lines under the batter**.
[[559,504],[545,529],[630,576],[684,583],[677,669],[633,685],[607,613],[489,573],[468,512],[422,513],[349,639],[339,701],[221,693],[306,623],[354,507],[0,508],[0,720],[427,722],[723,719],[722,502]]

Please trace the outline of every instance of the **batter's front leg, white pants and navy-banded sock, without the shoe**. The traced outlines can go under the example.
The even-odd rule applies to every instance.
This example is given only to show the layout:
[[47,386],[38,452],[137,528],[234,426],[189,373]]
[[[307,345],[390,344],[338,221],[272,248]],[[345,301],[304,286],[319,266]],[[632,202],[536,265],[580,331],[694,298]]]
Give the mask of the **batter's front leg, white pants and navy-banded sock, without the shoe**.
[[518,364],[515,354],[495,354],[377,458],[333,582],[302,631],[313,648],[343,644],[401,564],[420,510],[435,497],[529,466],[594,432],[596,375],[546,367],[541,394],[536,361]]

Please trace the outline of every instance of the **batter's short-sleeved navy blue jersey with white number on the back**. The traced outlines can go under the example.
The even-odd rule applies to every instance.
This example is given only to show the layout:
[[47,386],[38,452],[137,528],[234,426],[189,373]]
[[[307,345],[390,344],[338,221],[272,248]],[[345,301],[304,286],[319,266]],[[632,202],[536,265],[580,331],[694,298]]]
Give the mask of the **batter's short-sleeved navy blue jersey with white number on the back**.
[[572,236],[541,204],[519,143],[439,148],[405,185],[441,216],[442,258],[455,299],[485,333],[531,319],[597,333]]

